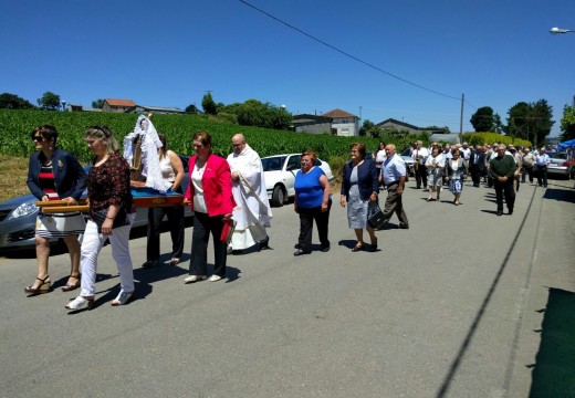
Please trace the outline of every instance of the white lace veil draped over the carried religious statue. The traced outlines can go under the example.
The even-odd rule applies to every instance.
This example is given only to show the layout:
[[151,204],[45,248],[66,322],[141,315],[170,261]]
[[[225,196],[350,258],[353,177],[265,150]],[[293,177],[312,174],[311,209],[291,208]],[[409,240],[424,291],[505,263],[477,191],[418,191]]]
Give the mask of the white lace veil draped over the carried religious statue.
[[159,168],[158,148],[161,148],[161,142],[158,137],[156,127],[144,115],[138,116],[134,132],[124,138],[124,158],[133,165],[134,160],[134,142],[140,138],[142,150],[142,175],[146,177],[146,187],[156,189],[161,193],[166,192],[170,185],[164,181],[161,170]]

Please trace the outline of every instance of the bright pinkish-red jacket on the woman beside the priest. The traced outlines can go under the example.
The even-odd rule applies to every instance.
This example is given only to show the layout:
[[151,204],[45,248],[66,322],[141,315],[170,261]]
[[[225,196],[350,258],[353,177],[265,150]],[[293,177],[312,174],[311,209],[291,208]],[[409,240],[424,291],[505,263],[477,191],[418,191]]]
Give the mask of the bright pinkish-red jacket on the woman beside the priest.
[[[188,161],[189,180],[185,197],[189,200],[191,211],[194,211],[194,184],[191,182],[191,175],[197,158],[198,156],[194,155]],[[203,199],[206,200],[209,217],[232,213],[236,201],[231,193],[231,172],[228,160],[218,155],[210,154],[206,163],[203,176],[201,177],[201,186],[203,188]]]

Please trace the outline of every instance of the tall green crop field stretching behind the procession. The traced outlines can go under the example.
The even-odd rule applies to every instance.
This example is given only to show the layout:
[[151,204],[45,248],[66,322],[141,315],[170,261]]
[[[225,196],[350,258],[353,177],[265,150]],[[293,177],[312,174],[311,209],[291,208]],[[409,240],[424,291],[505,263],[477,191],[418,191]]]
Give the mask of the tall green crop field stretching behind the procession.
[[[124,137],[134,130],[136,119],[136,114],[0,109],[0,154],[29,157],[34,150],[30,133],[36,126],[50,124],[59,130],[59,147],[86,164],[92,158],[84,142],[84,130],[88,126],[108,126],[122,144]],[[156,129],[166,135],[168,146],[184,155],[194,154],[191,136],[199,130],[211,134],[213,151],[224,157],[231,153],[231,137],[236,133],[242,133],[261,157],[313,149],[320,158],[331,161],[336,157],[348,159],[351,143],[362,142],[368,150],[376,150],[378,144],[378,139],[368,137],[335,137],[245,127],[230,124],[228,118],[220,122],[205,115],[155,115],[153,122]],[[412,138],[398,137],[394,144],[402,149],[411,142]]]

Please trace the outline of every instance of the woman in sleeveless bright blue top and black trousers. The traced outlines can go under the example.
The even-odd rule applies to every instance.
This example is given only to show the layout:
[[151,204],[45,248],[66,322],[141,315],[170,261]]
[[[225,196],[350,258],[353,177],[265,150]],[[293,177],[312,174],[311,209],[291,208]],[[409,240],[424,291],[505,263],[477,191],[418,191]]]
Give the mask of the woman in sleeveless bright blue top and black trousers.
[[300,238],[293,255],[310,254],[312,252],[313,220],[317,224],[317,233],[322,251],[330,251],[327,239],[327,226],[330,222],[330,181],[325,172],[315,166],[317,157],[313,150],[302,154],[302,169],[297,171],[294,181],[295,200],[294,210],[300,214]]

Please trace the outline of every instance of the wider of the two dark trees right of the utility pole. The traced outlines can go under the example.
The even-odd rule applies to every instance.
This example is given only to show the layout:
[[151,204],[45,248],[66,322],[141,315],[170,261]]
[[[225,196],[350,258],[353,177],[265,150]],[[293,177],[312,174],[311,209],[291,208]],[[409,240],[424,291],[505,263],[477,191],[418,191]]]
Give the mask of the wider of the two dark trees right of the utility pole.
[[546,100],[529,104],[516,103],[509,109],[505,133],[512,137],[526,139],[535,146],[545,142],[555,123],[552,121],[553,107],[547,105]]

